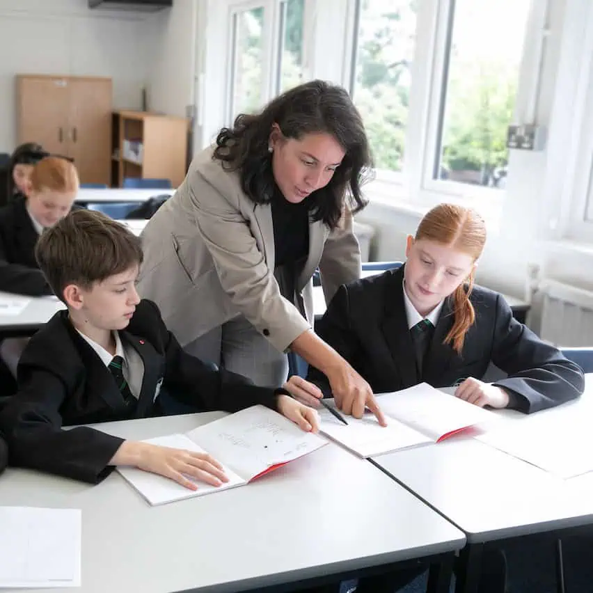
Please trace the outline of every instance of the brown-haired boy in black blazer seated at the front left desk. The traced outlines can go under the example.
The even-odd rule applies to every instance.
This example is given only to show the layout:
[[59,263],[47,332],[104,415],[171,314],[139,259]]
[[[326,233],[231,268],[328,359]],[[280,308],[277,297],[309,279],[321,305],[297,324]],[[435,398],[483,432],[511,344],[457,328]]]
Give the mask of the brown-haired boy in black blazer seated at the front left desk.
[[113,466],[132,465],[175,480],[227,480],[207,454],[124,441],[100,430],[62,425],[158,416],[159,390],[196,409],[239,409],[259,403],[303,430],[317,414],[288,392],[258,387],[186,354],[135,281],[139,239],[100,212],[78,209],[46,230],[35,250],[49,285],[68,310],[29,341],[19,362],[19,392],[0,413],[11,464],[86,482]]

